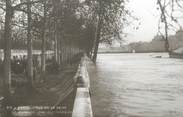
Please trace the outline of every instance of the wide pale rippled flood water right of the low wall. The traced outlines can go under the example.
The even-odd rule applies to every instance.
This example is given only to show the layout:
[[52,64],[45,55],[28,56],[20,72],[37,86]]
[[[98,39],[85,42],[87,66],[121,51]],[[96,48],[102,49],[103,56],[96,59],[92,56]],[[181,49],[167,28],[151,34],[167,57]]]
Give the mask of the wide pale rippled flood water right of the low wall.
[[89,71],[94,117],[183,117],[183,59],[99,54]]

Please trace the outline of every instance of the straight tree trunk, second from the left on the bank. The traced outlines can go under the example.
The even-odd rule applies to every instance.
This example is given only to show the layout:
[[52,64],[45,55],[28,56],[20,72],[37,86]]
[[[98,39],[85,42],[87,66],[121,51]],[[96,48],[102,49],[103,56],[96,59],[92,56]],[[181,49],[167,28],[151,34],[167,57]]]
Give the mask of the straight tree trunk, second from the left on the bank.
[[32,57],[32,39],[31,39],[31,4],[30,0],[27,0],[27,18],[28,18],[28,27],[27,27],[27,75],[29,85],[33,86],[33,57]]

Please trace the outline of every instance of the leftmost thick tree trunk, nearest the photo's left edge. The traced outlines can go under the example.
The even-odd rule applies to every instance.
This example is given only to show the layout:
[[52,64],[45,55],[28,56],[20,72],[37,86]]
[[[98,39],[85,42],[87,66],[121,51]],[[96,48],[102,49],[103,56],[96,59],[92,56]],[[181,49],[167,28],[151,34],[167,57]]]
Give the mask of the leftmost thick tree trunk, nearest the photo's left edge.
[[11,0],[6,0],[5,31],[4,31],[4,96],[8,96],[11,90],[11,23],[13,9]]

